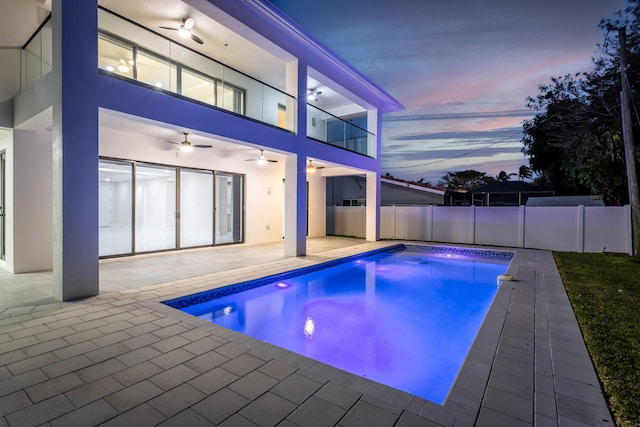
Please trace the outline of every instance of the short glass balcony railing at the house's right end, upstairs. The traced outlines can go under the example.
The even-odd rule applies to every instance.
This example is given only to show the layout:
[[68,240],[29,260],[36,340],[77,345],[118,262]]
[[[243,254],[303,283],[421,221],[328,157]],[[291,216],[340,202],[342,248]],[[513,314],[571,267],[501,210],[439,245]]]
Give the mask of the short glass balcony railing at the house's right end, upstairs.
[[310,104],[307,104],[307,136],[376,158],[374,134]]

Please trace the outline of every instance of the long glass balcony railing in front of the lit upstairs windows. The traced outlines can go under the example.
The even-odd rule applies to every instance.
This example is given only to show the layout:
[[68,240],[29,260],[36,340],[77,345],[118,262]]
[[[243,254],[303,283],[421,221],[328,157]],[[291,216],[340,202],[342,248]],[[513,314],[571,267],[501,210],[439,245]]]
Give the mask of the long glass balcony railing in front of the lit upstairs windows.
[[99,69],[295,131],[294,97],[107,10],[98,28]]

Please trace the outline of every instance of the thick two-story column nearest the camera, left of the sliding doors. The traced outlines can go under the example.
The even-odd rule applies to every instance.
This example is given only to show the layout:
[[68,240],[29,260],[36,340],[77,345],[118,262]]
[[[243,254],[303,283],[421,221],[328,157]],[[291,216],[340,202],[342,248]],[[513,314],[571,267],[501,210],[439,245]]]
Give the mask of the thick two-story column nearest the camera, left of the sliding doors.
[[54,0],[53,293],[98,293],[97,0]]

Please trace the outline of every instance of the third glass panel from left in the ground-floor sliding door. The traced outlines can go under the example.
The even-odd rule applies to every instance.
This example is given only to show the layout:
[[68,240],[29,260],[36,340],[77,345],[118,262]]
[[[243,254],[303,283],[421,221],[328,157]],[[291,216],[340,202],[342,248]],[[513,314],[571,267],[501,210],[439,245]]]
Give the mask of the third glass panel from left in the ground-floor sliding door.
[[180,170],[180,247],[213,245],[213,173]]

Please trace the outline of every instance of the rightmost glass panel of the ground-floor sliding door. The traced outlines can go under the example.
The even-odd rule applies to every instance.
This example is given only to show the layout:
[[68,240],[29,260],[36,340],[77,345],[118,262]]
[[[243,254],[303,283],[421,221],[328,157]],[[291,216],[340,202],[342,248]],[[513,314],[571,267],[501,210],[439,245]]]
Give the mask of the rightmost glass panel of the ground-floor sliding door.
[[243,177],[216,172],[216,243],[241,242],[243,237]]

